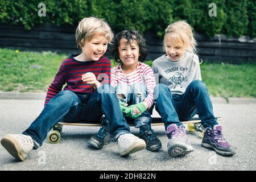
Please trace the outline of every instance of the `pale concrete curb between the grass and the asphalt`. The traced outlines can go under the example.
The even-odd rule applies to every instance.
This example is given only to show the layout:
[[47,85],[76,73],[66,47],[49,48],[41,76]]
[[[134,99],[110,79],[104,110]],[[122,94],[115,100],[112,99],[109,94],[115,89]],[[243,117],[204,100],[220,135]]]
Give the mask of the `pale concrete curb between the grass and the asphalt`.
[[[32,92],[0,92],[0,100],[45,100],[46,93]],[[228,98],[210,97],[213,104],[256,104],[256,98]]]

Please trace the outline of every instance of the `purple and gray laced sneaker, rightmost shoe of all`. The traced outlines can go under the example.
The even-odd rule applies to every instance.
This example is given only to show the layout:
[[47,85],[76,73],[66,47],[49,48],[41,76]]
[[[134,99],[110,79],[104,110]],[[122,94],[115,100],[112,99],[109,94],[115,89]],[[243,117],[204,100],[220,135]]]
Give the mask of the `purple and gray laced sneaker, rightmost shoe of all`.
[[222,126],[214,125],[213,129],[204,129],[204,138],[201,146],[213,149],[219,155],[230,156],[236,154],[230,144],[222,135]]

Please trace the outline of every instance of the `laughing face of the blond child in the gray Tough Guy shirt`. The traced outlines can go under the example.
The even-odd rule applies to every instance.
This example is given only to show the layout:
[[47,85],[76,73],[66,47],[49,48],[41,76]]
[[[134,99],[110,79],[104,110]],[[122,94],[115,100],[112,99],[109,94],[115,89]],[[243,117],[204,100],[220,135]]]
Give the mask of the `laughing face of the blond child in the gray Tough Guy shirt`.
[[174,36],[167,35],[164,40],[164,49],[171,61],[178,61],[185,53],[184,43],[178,42]]

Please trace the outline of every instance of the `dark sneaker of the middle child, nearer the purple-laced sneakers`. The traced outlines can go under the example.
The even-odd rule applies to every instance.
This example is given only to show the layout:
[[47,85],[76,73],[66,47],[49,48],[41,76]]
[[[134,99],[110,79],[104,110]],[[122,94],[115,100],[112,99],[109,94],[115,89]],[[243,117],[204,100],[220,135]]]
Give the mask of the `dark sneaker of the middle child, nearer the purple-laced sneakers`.
[[146,142],[146,148],[149,151],[158,151],[162,148],[162,143],[151,129],[149,125],[143,125],[140,127],[139,138]]

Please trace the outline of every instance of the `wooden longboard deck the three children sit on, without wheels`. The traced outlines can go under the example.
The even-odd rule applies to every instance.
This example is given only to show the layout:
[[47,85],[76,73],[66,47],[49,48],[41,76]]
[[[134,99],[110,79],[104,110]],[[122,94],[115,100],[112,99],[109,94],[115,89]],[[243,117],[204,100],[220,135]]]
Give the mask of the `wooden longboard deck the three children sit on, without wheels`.
[[[217,121],[221,121],[223,120],[223,118],[221,117],[217,117]],[[189,123],[200,123],[201,120],[198,117],[195,118],[191,118],[189,119],[189,121],[181,121],[183,124],[189,124]],[[134,126],[134,122],[133,121],[127,121],[127,123],[130,126]],[[100,121],[90,121],[90,122],[59,122],[58,125],[69,125],[69,126],[101,126],[101,122]],[[164,125],[164,123],[162,122],[162,118],[159,117],[155,117],[152,118],[152,122],[151,122],[151,126],[162,126]]]

